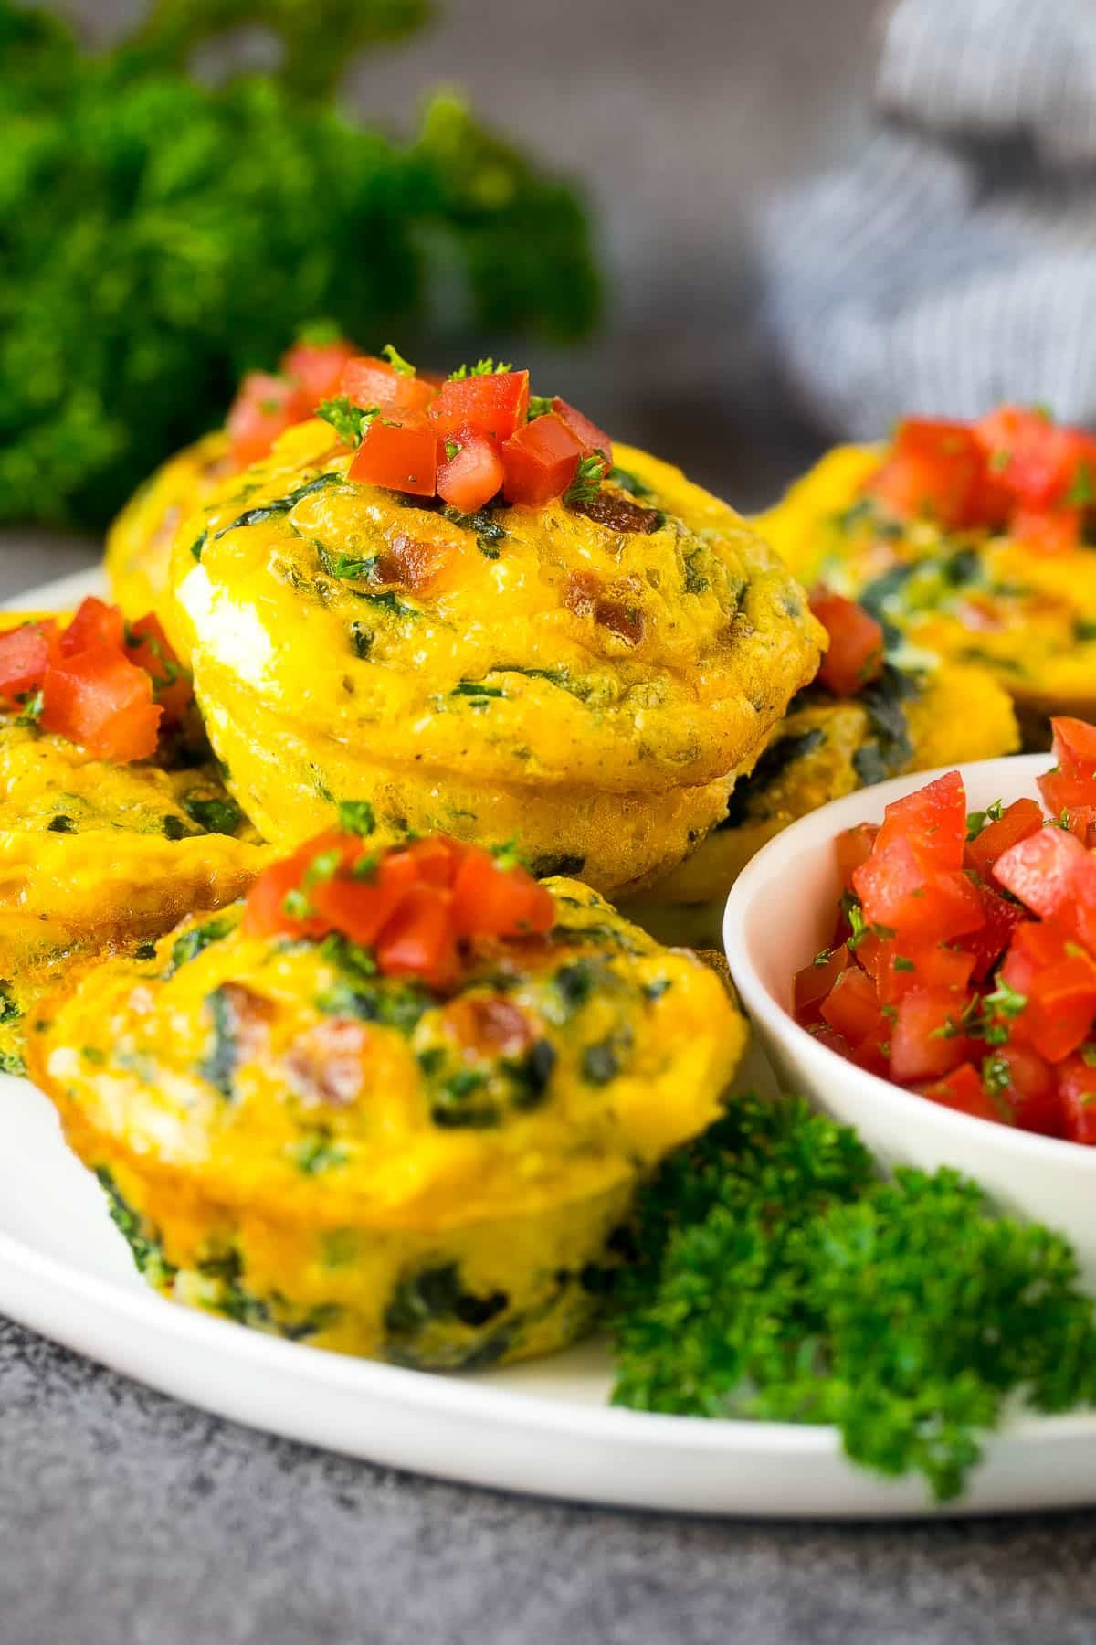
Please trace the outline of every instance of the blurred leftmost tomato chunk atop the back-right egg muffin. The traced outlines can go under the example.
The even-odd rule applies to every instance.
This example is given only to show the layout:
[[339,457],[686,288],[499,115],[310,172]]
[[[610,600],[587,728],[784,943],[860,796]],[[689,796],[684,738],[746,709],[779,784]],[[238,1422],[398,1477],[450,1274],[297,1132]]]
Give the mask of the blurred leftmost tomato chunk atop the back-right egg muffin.
[[900,518],[928,517],[943,530],[963,530],[986,518],[988,464],[966,423],[907,418],[891,456],[866,487]]

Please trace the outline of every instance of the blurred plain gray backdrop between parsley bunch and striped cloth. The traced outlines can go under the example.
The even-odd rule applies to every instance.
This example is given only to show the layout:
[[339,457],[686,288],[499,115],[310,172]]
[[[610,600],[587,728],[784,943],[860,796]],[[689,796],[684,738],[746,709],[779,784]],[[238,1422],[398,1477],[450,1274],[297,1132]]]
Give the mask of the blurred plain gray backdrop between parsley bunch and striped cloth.
[[[141,0],[49,0],[89,43]],[[363,59],[347,97],[409,122],[437,84],[585,179],[608,301],[580,350],[523,352],[621,439],[743,508],[820,446],[758,322],[751,220],[866,127],[881,0],[437,0],[432,30]],[[222,61],[255,43],[230,39]],[[217,69],[217,56],[209,64]],[[0,533],[0,597],[95,558],[87,540]]]

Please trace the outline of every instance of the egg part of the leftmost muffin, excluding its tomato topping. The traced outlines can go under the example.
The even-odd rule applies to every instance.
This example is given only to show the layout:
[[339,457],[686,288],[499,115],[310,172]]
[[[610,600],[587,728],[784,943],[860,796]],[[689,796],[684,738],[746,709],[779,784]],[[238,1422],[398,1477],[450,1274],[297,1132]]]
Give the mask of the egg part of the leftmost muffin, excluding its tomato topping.
[[[12,632],[15,615],[5,617]],[[23,1071],[44,990],[89,954],[148,943],[248,887],[269,854],[217,767],[177,739],[99,758],[0,704],[0,1068]],[[171,767],[171,760],[181,762]]]

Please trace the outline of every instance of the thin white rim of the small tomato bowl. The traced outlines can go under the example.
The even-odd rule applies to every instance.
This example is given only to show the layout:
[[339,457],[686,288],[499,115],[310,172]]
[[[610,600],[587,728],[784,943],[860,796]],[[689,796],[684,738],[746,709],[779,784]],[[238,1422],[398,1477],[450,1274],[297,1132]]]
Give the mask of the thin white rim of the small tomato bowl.
[[[892,1114],[896,1122],[915,1125],[919,1115],[923,1120],[925,1097],[915,1091],[905,1091],[904,1086],[897,1086],[881,1074],[873,1074],[854,1063],[848,1063],[836,1051],[831,1051],[830,1046],[807,1033],[790,1012],[769,994],[754,966],[746,939],[749,915],[754,908],[758,892],[766,887],[777,864],[784,864],[782,882],[787,895],[794,897],[795,859],[800,852],[805,854],[808,849],[825,844],[827,839],[835,839],[841,829],[851,827],[856,822],[869,822],[882,818],[884,808],[892,799],[900,799],[923,788],[925,783],[933,781],[937,776],[958,770],[966,783],[971,772],[989,773],[992,768],[1007,768],[1012,778],[1011,786],[1024,778],[1030,778],[1030,786],[1034,786],[1035,776],[1047,772],[1050,765],[1050,753],[1012,753],[1001,755],[996,760],[968,760],[963,765],[938,765],[928,772],[910,772],[905,776],[894,776],[871,788],[859,788],[851,795],[843,795],[840,799],[830,799],[825,806],[818,806],[817,811],[799,818],[774,839],[767,841],[735,880],[723,911],[723,949],[735,987],[743,999],[749,1018],[759,1023],[777,1045],[792,1045],[807,1051],[808,1056],[820,1058],[820,1066],[835,1077],[841,1077],[853,1089],[858,1101],[884,1107]],[[808,1096],[808,1092],[804,1094]],[[992,1120],[983,1120],[973,1114],[960,1114],[956,1109],[946,1109],[937,1102],[928,1107],[932,1124],[940,1127],[945,1135],[955,1137],[958,1143],[974,1145],[981,1140],[983,1148],[988,1145],[1001,1155],[1024,1156],[1029,1161],[1042,1160],[1048,1166],[1063,1166],[1068,1163],[1073,1171],[1088,1171],[1096,1178],[1096,1148],[1086,1148],[1065,1137],[1040,1137],[1037,1132],[1025,1132],[1015,1125],[997,1125]]]

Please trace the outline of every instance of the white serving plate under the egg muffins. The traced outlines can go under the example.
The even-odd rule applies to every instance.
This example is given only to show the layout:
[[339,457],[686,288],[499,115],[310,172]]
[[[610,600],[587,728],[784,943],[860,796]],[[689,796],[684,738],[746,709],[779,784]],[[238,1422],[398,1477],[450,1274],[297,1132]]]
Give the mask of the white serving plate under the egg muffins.
[[[66,579],[20,604],[79,599]],[[766,1079],[751,1059],[743,1084]],[[475,1377],[434,1377],[261,1336],[153,1295],[49,1102],[0,1076],[0,1309],[150,1387],[222,1416],[473,1485],[693,1513],[932,1515],[920,1480],[845,1461],[830,1428],[613,1410],[600,1344]],[[948,1512],[1096,1502],[1096,1415],[1020,1416],[989,1441]]]

